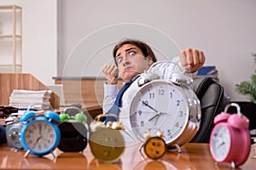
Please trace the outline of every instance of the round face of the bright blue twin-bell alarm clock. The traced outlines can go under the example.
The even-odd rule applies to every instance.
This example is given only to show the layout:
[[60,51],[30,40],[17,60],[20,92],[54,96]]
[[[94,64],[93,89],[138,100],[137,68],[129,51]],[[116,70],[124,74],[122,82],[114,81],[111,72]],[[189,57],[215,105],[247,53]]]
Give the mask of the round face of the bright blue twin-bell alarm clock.
[[27,125],[23,138],[26,150],[46,154],[55,147],[56,133],[49,122],[36,121]]

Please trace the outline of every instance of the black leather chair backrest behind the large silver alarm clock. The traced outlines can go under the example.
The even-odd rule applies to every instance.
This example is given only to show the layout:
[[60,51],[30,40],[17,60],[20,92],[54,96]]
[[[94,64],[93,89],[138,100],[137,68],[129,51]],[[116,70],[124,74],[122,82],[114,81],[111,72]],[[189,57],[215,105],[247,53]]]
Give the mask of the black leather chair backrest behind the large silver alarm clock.
[[230,97],[212,77],[195,78],[191,88],[201,102],[201,125],[190,142],[209,143],[214,117],[224,111],[224,107],[230,103]]

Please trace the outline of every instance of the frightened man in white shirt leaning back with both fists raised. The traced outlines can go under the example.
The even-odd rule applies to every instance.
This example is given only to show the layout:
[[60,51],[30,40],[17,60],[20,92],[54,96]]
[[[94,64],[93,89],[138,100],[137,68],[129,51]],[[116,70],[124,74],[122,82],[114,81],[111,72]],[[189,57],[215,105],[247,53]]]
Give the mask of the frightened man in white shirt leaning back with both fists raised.
[[[108,113],[118,94],[118,75],[123,82],[132,82],[125,90],[119,105],[119,122],[122,122],[129,129],[129,105],[132,96],[137,92],[137,77],[143,71],[158,74],[168,79],[173,72],[185,71],[196,74],[196,71],[204,64],[205,55],[202,51],[188,48],[183,50],[175,62],[156,61],[152,49],[145,42],[126,39],[119,42],[113,48],[113,59],[116,65],[105,65],[102,72],[107,78],[104,83],[103,112]],[[180,62],[179,62],[180,61]],[[180,68],[177,66],[179,65]]]

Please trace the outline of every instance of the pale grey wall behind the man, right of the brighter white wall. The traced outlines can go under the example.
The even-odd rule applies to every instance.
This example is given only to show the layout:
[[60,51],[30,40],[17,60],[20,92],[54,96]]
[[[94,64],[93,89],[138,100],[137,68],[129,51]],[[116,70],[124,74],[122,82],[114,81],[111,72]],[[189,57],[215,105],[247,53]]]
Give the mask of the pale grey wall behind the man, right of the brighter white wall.
[[[177,42],[179,48],[203,50],[207,56],[206,65],[217,66],[220,82],[231,99],[233,101],[246,99],[245,96],[235,92],[235,84],[249,80],[255,69],[252,53],[256,53],[256,1],[76,0],[75,3],[73,2],[61,1],[59,76],[63,74],[62,69],[69,71],[66,61],[70,63],[73,60],[79,63],[79,59],[70,58],[71,55],[78,55],[74,52],[75,48],[79,48],[76,51],[80,50],[79,53],[82,53],[80,54],[82,62],[83,59],[95,55],[94,53],[99,53],[96,50],[106,50],[94,46],[109,45],[106,44],[106,39],[113,41],[110,37],[115,35],[105,35],[100,39],[95,36],[99,30],[122,23],[137,23],[166,33]],[[116,31],[116,34],[118,33],[119,30]],[[100,33],[99,36],[101,35]],[[148,37],[158,41],[157,35],[149,34]],[[84,43],[84,40],[90,43]],[[79,47],[81,43],[84,43],[84,51]],[[90,48],[86,48],[88,44]],[[163,42],[162,46],[168,44]],[[108,54],[98,57],[94,62],[95,66],[89,66],[88,72],[93,70],[97,74],[102,59],[104,57],[111,59],[111,49],[108,49]],[[78,65],[75,65],[76,69],[73,71],[79,71],[76,66]],[[78,73],[78,76],[81,74]]]

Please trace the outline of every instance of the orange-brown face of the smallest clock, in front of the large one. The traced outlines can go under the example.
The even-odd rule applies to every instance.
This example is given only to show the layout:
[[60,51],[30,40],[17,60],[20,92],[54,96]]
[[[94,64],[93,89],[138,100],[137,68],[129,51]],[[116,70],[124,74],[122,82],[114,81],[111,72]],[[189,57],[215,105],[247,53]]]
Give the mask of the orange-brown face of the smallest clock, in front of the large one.
[[166,143],[160,137],[149,138],[144,144],[145,154],[154,160],[160,159],[166,153]]

